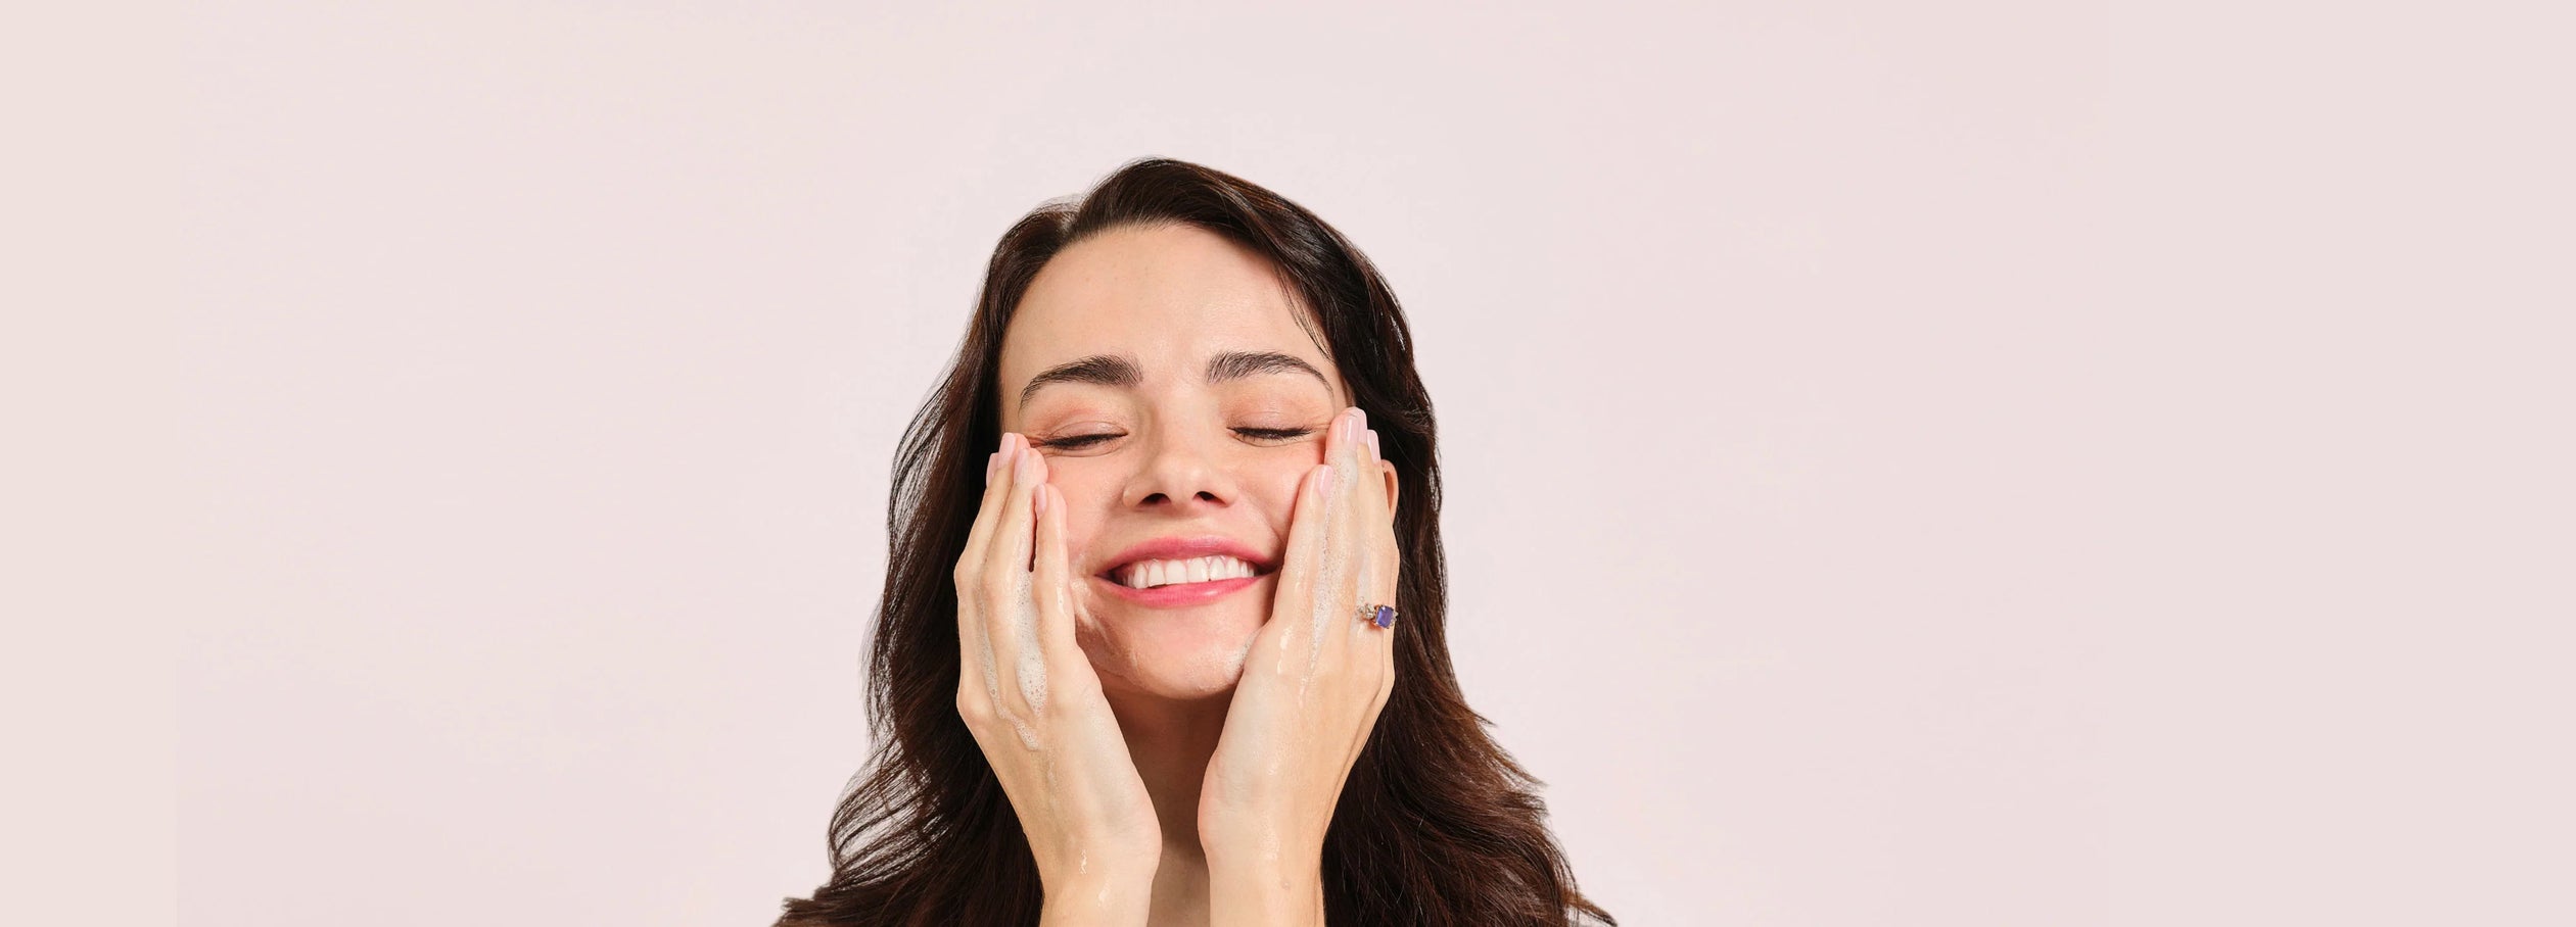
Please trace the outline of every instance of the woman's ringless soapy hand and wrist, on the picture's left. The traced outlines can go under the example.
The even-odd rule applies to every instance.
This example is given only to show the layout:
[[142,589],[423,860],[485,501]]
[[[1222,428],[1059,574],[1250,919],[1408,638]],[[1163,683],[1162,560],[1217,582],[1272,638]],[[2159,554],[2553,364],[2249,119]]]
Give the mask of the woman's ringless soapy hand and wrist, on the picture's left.
[[1074,644],[1064,500],[1002,435],[958,556],[958,716],[1038,857],[1048,924],[1144,924],[1162,829],[1090,657]]

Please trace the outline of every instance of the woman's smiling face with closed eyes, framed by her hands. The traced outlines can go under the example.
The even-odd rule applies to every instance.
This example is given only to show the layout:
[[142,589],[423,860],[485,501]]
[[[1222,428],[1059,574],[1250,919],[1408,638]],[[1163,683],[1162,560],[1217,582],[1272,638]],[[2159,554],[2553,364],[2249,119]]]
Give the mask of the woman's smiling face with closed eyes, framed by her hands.
[[1077,639],[1108,695],[1242,677],[1296,487],[1350,404],[1298,312],[1260,255],[1131,227],[1056,252],[1002,335],[1002,430],[1064,497]]

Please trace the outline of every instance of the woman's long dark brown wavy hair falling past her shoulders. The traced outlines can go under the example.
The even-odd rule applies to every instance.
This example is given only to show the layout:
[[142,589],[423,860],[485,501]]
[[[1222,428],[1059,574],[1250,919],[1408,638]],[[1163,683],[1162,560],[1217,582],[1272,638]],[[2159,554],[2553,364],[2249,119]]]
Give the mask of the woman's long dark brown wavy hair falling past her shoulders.
[[[1121,227],[1190,224],[1265,255],[1311,309],[1352,402],[1396,464],[1396,682],[1324,837],[1332,924],[1613,922],[1574,888],[1530,778],[1468,711],[1448,657],[1432,399],[1396,294],[1324,219],[1242,178],[1136,160],[1084,198],[1051,201],[994,245],[945,381],[894,453],[886,592],[868,654],[873,754],[832,814],[832,881],[778,927],[1036,924],[1041,886],[1020,821],[956,711],[953,569],[1002,440],[1002,330],[1056,252]],[[1615,924],[1615,922],[1613,922]]]

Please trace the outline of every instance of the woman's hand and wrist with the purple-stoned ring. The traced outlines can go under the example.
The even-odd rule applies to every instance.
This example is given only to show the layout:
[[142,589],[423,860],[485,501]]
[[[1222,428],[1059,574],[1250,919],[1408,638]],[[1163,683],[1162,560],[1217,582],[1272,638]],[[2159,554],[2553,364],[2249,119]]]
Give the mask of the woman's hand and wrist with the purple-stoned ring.
[[1298,484],[1270,623],[1244,654],[1198,798],[1218,924],[1324,922],[1324,829],[1396,685],[1396,479],[1368,415],[1342,409]]

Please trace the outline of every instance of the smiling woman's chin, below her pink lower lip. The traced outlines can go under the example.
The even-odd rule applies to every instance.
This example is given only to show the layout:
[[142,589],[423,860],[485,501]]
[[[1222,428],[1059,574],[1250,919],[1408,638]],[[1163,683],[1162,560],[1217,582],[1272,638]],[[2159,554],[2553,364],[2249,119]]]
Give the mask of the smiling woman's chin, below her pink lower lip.
[[[1267,595],[1257,600],[1267,603]],[[1267,608],[1255,613],[1234,603],[1185,610],[1110,605],[1097,613],[1100,628],[1082,636],[1082,651],[1108,695],[1221,698],[1244,677],[1244,654],[1267,618]]]

